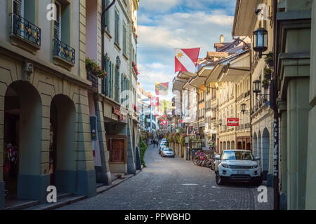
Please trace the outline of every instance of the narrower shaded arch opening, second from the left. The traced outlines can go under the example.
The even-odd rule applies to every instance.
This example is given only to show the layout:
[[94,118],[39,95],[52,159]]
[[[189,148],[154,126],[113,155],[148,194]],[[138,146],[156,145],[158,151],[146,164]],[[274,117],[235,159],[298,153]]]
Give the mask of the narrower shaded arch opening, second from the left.
[[49,162],[51,185],[59,193],[76,193],[77,165],[75,151],[74,102],[58,94],[51,102],[51,141]]

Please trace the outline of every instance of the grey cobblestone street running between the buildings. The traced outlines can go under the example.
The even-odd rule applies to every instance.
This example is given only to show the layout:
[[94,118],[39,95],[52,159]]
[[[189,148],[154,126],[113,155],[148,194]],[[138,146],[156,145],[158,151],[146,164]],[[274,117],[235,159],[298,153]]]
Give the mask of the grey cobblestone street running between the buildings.
[[154,146],[147,149],[145,162],[147,168],[119,186],[60,209],[272,209],[272,188],[268,188],[268,203],[259,203],[255,186],[217,186],[211,169],[183,158],[161,158]]

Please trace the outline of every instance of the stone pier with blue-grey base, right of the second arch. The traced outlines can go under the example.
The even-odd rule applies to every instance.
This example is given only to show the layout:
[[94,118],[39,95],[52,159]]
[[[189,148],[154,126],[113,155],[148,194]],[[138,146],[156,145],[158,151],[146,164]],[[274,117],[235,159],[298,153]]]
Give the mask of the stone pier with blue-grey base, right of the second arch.
[[91,127],[88,105],[81,98],[86,98],[86,90],[79,90],[77,104],[77,193],[96,196],[96,170],[94,169],[93,150],[91,145]]

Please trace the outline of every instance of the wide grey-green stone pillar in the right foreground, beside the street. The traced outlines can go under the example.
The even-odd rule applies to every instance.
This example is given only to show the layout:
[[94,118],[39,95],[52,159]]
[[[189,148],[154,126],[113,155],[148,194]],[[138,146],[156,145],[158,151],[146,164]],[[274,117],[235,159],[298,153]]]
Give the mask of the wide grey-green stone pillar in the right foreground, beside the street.
[[305,209],[309,78],[289,80],[287,89],[288,209]]

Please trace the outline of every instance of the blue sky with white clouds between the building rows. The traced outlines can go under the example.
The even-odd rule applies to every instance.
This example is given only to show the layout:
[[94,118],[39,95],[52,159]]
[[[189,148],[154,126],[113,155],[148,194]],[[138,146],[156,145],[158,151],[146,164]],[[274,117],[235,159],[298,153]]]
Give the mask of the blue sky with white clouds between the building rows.
[[236,0],[140,0],[138,10],[138,81],[154,93],[154,82],[169,82],[171,99],[174,48],[214,51],[223,34],[232,41]]

